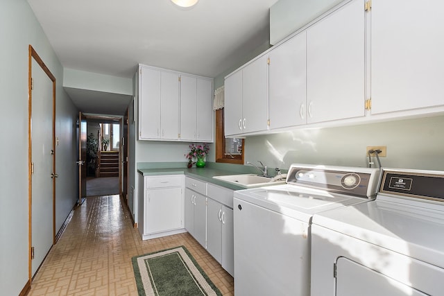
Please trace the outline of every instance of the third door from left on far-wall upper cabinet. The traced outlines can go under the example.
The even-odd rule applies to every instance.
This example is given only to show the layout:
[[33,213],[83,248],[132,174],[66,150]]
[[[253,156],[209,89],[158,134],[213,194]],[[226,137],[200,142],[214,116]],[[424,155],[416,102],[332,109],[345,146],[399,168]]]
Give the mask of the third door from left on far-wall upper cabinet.
[[196,139],[196,89],[197,79],[191,76],[180,76],[180,139]]

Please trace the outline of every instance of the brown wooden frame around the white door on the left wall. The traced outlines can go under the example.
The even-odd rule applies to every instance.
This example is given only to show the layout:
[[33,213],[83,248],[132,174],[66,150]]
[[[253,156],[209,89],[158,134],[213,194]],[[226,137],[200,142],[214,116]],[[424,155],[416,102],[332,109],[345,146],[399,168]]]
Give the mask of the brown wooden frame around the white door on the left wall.
[[[53,150],[53,167],[52,171],[56,174],[56,77],[53,76],[51,71],[49,71],[46,64],[44,64],[42,58],[37,54],[35,49],[31,44],[28,46],[29,54],[28,54],[28,224],[29,224],[29,232],[28,232],[28,283],[31,287],[32,281],[32,271],[31,271],[31,247],[32,247],[32,197],[33,197],[33,188],[32,188],[32,148],[33,143],[31,139],[31,116],[32,116],[32,89],[33,89],[33,80],[32,80],[32,61],[33,59],[37,64],[40,65],[44,73],[51,79],[53,82],[53,119],[52,119],[52,150]],[[56,243],[56,178],[53,178],[53,245]]]

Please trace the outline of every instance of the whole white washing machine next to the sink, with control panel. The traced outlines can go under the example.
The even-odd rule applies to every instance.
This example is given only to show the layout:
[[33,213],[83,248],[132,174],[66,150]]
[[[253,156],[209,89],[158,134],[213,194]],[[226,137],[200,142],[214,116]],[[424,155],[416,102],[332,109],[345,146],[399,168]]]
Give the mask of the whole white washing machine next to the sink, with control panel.
[[293,164],[287,184],[234,191],[234,293],[310,295],[313,214],[375,198],[379,170]]

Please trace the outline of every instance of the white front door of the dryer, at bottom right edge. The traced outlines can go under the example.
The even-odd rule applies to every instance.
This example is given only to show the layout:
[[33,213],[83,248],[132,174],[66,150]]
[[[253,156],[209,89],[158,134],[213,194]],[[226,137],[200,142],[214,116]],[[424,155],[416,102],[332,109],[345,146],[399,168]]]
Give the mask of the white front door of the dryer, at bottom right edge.
[[338,296],[428,295],[345,257],[339,257],[336,268]]

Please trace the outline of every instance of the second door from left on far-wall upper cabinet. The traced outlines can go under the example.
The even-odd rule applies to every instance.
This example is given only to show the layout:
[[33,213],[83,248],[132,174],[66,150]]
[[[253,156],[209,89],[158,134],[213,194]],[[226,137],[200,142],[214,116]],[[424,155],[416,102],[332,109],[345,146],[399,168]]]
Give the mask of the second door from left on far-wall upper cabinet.
[[179,137],[179,75],[161,72],[160,75],[161,139],[177,140]]

